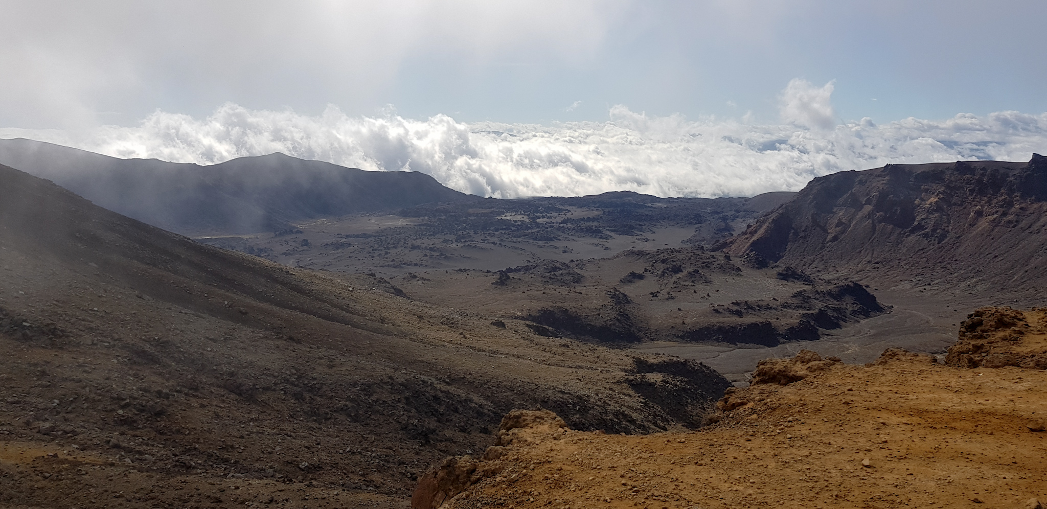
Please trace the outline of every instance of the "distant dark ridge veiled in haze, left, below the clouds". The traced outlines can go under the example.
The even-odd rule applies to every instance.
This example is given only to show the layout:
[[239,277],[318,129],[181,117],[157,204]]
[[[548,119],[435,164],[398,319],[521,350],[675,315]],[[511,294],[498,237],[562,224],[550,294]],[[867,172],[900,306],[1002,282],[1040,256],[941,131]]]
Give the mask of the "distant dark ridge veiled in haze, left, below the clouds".
[[202,167],[15,138],[0,140],[0,164],[185,234],[273,231],[316,217],[480,199],[422,173],[365,172],[279,153]]

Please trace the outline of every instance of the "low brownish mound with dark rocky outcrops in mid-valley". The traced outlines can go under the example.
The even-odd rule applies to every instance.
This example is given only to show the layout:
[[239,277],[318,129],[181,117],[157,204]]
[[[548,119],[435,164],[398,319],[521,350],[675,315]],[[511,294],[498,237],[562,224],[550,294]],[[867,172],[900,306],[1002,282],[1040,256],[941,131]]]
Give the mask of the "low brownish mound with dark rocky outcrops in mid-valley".
[[701,248],[391,280],[430,303],[522,318],[551,333],[602,344],[676,341],[767,347],[818,339],[887,311],[864,287],[789,268],[754,267]]

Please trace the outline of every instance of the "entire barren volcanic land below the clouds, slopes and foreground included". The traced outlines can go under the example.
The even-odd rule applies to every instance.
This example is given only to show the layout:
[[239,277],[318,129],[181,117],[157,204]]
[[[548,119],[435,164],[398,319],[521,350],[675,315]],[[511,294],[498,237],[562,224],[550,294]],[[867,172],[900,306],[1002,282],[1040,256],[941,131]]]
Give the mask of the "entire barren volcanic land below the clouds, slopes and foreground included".
[[[495,200],[282,155],[207,175],[19,143],[0,162],[45,151],[36,173],[85,196],[138,183],[92,203],[0,167],[0,507],[1044,496],[1041,435],[1016,424],[1047,412],[1041,156]],[[255,167],[272,180],[241,189]],[[142,169],[196,191],[150,202]],[[318,180],[287,187],[298,172]],[[1019,439],[1015,463],[981,458]]]

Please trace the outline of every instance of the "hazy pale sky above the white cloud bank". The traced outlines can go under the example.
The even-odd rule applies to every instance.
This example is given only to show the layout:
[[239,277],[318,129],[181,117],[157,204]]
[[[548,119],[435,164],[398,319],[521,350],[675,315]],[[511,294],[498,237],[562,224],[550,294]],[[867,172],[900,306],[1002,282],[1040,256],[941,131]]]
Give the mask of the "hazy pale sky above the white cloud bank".
[[[771,121],[793,79],[841,119],[1047,111],[1043,1],[0,1],[0,127],[130,126],[231,102],[306,114]],[[577,105],[571,108],[572,105]]]

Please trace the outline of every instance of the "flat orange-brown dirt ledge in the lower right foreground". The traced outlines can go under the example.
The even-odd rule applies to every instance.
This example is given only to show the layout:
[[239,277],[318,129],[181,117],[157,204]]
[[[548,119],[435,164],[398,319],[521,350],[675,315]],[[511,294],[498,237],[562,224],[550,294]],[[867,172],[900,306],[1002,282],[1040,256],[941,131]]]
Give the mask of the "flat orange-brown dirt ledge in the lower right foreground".
[[[1038,311],[1020,325],[1033,341],[1047,332]],[[500,448],[478,463],[450,460],[423,478],[414,505],[1031,508],[1047,499],[1047,372],[941,366],[898,350],[867,366],[810,354],[761,367],[768,383],[729,394],[718,422],[693,433],[583,433],[551,413],[526,427],[504,421]],[[803,378],[787,383],[790,373]]]

